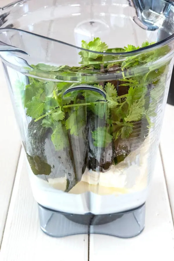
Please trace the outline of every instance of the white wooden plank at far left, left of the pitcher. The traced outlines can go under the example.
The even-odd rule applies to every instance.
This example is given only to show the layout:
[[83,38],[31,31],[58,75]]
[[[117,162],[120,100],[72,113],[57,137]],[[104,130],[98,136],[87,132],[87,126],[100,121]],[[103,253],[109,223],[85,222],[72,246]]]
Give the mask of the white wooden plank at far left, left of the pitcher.
[[19,151],[21,147],[19,131],[8,93],[5,76],[0,63],[0,246],[10,201]]

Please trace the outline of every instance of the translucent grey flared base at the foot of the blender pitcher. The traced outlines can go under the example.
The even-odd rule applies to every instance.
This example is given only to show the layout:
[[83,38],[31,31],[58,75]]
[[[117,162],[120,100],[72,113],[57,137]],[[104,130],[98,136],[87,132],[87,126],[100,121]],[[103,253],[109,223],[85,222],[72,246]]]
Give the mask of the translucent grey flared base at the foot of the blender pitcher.
[[139,235],[144,229],[145,204],[129,211],[104,215],[70,214],[39,205],[39,218],[41,229],[53,237],[105,234],[131,238]]

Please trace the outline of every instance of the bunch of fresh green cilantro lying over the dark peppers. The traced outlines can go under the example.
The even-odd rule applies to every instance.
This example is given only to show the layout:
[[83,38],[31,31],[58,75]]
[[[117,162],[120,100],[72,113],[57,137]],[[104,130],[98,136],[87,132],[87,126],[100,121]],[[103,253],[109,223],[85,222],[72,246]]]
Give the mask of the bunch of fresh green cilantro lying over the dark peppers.
[[[153,44],[153,43],[152,43]],[[147,41],[141,47],[149,46]],[[153,117],[156,116],[157,104],[164,95],[166,65],[153,68],[153,61],[169,52],[168,46],[153,51],[136,53],[140,47],[128,45],[124,48],[110,48],[100,38],[86,43],[82,41],[81,66],[50,66],[46,64],[32,65],[32,74],[42,77],[43,71],[48,72],[54,79],[57,75],[67,76],[67,82],[44,81],[29,77],[30,84],[26,85],[24,106],[26,114],[35,122],[41,121],[43,128],[51,128],[51,141],[57,151],[68,145],[68,135],[80,135],[80,130],[87,126],[87,115],[95,115],[95,119],[103,122],[103,126],[95,127],[91,132],[93,144],[97,147],[107,147],[115,140],[128,139],[133,133],[136,122],[143,118],[147,120],[147,127],[153,127]],[[88,50],[95,52],[89,52]],[[122,62],[114,62],[116,52],[135,51],[135,55],[128,55]],[[109,54],[106,54],[109,53]],[[141,73],[137,68],[141,67]],[[99,88],[106,94],[105,98],[90,90],[74,91],[64,95],[65,90],[77,84],[71,81],[76,73],[115,73],[115,79],[102,84],[94,77],[92,86]],[[118,76],[121,79],[118,79]],[[81,81],[81,84],[88,83]],[[18,83],[24,88],[23,83]],[[21,86],[21,87],[20,87]],[[150,87],[149,87],[150,86]],[[152,88],[153,86],[153,88]],[[151,88],[151,90],[148,90]],[[91,116],[92,117],[92,116]],[[103,120],[103,121],[102,121]]]

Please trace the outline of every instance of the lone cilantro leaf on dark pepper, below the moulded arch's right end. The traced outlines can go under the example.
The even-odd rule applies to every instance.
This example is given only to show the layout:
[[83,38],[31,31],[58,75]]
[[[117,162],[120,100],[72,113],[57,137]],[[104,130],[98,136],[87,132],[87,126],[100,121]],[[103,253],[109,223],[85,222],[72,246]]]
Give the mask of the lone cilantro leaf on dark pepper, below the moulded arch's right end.
[[106,127],[98,127],[92,132],[92,138],[94,140],[94,146],[104,148],[112,142],[113,136],[107,132]]

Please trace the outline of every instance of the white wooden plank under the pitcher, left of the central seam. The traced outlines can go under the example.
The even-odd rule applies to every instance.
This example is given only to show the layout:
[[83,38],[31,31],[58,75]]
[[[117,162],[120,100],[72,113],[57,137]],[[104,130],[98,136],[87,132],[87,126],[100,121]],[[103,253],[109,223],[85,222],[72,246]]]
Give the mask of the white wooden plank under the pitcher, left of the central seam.
[[32,197],[23,152],[14,183],[0,260],[88,260],[88,235],[52,238],[39,228],[37,203]]

